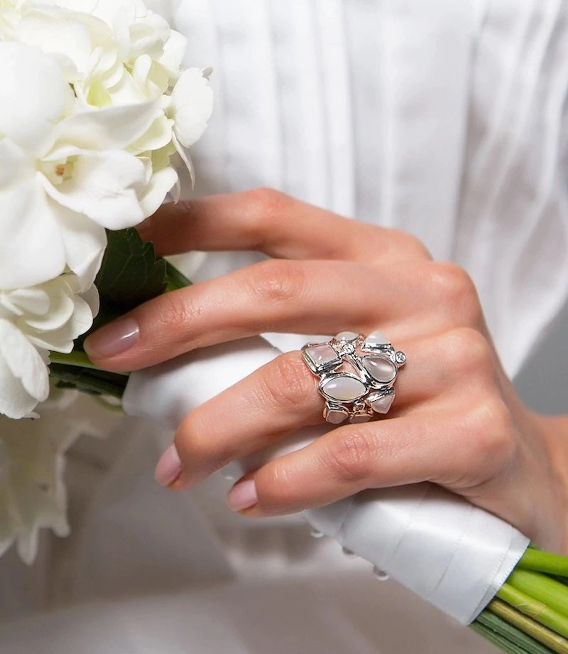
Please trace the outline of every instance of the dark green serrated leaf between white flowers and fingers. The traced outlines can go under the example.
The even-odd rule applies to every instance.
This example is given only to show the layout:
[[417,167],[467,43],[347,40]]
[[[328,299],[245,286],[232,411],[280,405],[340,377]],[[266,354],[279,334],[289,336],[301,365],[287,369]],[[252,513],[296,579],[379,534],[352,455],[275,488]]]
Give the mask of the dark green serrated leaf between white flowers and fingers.
[[95,284],[104,315],[114,318],[162,294],[168,285],[165,259],[156,257],[133,228],[107,232],[109,245]]

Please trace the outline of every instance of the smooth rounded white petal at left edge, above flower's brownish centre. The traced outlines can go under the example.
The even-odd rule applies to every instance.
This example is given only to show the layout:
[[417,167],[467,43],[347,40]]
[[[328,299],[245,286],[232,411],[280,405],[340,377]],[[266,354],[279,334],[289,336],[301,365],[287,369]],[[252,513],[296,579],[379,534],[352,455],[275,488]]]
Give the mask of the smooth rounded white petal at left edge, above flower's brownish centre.
[[60,68],[39,48],[0,41],[0,80],[0,135],[43,153],[73,99]]

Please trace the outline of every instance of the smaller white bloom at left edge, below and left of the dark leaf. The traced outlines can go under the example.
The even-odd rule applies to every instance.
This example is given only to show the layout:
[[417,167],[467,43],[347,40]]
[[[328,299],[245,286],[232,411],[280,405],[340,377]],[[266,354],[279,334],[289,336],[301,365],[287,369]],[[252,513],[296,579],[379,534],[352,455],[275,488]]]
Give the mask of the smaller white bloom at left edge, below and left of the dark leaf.
[[69,353],[97,311],[96,289],[82,292],[72,273],[0,290],[0,414],[26,417],[47,399],[49,350]]

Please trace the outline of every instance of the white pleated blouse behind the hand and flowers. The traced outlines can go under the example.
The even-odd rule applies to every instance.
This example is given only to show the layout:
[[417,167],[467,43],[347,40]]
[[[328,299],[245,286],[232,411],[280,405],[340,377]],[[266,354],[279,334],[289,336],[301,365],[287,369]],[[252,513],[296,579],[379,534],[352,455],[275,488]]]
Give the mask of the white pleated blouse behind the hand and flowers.
[[[173,0],[197,191],[272,186],[465,267],[510,375],[568,296],[568,3]],[[249,262],[209,257],[209,277]]]

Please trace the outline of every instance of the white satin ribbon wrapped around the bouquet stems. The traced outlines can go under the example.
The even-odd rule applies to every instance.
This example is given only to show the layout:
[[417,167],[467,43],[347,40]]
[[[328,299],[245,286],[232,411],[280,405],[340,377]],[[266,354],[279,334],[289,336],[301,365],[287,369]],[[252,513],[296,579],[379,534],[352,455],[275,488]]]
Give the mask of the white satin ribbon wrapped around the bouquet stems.
[[[131,375],[128,414],[177,427],[194,407],[280,354],[261,337],[204,348]],[[305,429],[285,446],[232,464],[240,476],[329,429]],[[430,483],[370,490],[305,512],[346,549],[463,624],[484,609],[528,545],[500,518]]]

